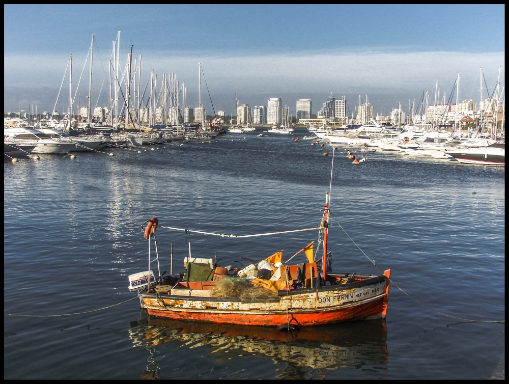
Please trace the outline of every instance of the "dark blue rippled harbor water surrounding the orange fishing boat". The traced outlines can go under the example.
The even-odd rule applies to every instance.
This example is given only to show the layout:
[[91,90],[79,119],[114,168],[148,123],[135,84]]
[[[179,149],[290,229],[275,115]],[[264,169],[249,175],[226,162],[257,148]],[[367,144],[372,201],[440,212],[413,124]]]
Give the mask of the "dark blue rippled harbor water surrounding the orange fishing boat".
[[[140,224],[153,216],[160,226],[236,235],[317,225],[332,147],[260,131],[140,154],[4,162],[4,312],[68,314],[135,296],[127,276],[147,268]],[[362,250],[433,309],[504,319],[505,169],[380,151],[353,165],[338,147],[331,210]],[[194,257],[217,253],[222,266],[281,249],[285,259],[316,240],[164,228],[157,236],[168,272],[172,243],[182,272],[186,240]],[[328,242],[333,271],[378,272],[334,221]],[[386,321],[293,334],[149,318],[137,299],[83,315],[4,316],[5,379],[485,379],[504,349],[504,324],[445,317],[393,285]]]

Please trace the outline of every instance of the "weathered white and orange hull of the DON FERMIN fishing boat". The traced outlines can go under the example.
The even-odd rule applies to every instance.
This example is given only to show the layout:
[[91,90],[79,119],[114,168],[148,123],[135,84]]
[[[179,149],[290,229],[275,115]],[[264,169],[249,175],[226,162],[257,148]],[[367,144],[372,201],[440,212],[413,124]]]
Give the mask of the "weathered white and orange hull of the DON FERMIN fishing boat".
[[377,319],[387,312],[389,273],[344,285],[278,291],[270,299],[141,292],[140,302],[151,316],[224,324],[310,326]]

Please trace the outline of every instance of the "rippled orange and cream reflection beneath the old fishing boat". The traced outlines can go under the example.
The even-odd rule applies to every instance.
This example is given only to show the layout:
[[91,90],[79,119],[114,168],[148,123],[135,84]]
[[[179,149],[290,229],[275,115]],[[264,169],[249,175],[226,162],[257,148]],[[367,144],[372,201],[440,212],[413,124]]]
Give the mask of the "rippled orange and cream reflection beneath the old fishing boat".
[[[167,356],[165,364],[165,356],[156,348],[168,342],[176,342],[176,348],[179,349],[203,348],[205,351],[200,351],[202,356],[232,352],[228,353],[229,363],[242,359],[242,356],[269,358],[274,364],[287,363],[283,371],[274,370],[274,378],[324,378],[327,370],[342,368],[368,370],[378,373],[378,377],[380,374],[384,378],[386,376],[387,328],[382,319],[302,327],[293,332],[281,332],[272,327],[222,325],[155,317],[147,319],[142,310],[140,319],[143,317],[144,320],[130,323],[129,330],[134,346],[145,347],[150,352],[149,364],[142,378],[173,378],[165,377],[175,373],[171,372],[171,356]],[[178,353],[181,356],[185,354],[182,350]],[[214,359],[214,355],[210,357]],[[217,355],[217,359],[222,358],[223,355]],[[221,363],[225,362],[221,360]],[[241,375],[249,376],[253,361],[246,359],[240,365],[239,362],[235,365],[242,365],[244,369],[238,372],[243,371]],[[199,372],[196,373],[201,376]]]

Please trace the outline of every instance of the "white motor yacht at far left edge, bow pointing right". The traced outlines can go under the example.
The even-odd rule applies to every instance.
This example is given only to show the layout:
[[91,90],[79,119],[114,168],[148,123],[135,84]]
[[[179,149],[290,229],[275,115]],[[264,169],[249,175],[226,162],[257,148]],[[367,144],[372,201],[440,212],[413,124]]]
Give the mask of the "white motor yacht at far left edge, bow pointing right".
[[16,143],[34,145],[33,154],[66,154],[76,143],[50,138],[49,135],[31,127],[4,127],[4,138]]

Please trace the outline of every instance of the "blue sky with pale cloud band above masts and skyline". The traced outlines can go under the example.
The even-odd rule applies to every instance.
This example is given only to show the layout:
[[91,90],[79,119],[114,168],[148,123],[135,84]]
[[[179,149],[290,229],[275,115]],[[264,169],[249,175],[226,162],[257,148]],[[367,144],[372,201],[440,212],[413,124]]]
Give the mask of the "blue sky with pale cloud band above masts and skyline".
[[[250,106],[280,97],[293,115],[297,99],[312,99],[316,114],[331,93],[349,109],[360,95],[387,116],[399,103],[408,113],[422,92],[433,102],[437,80],[447,101],[458,73],[460,101],[479,101],[480,68],[483,98],[499,72],[505,85],[504,5],[4,5],[4,112],[51,111],[62,83],[64,112],[70,54],[72,92],[83,72],[77,92],[88,103],[92,34],[92,106],[108,106],[118,31],[121,63],[131,45],[142,56],[142,88],[151,69],[176,73],[197,107],[201,62],[214,109],[227,115],[235,94]],[[212,114],[203,77],[202,104]]]

